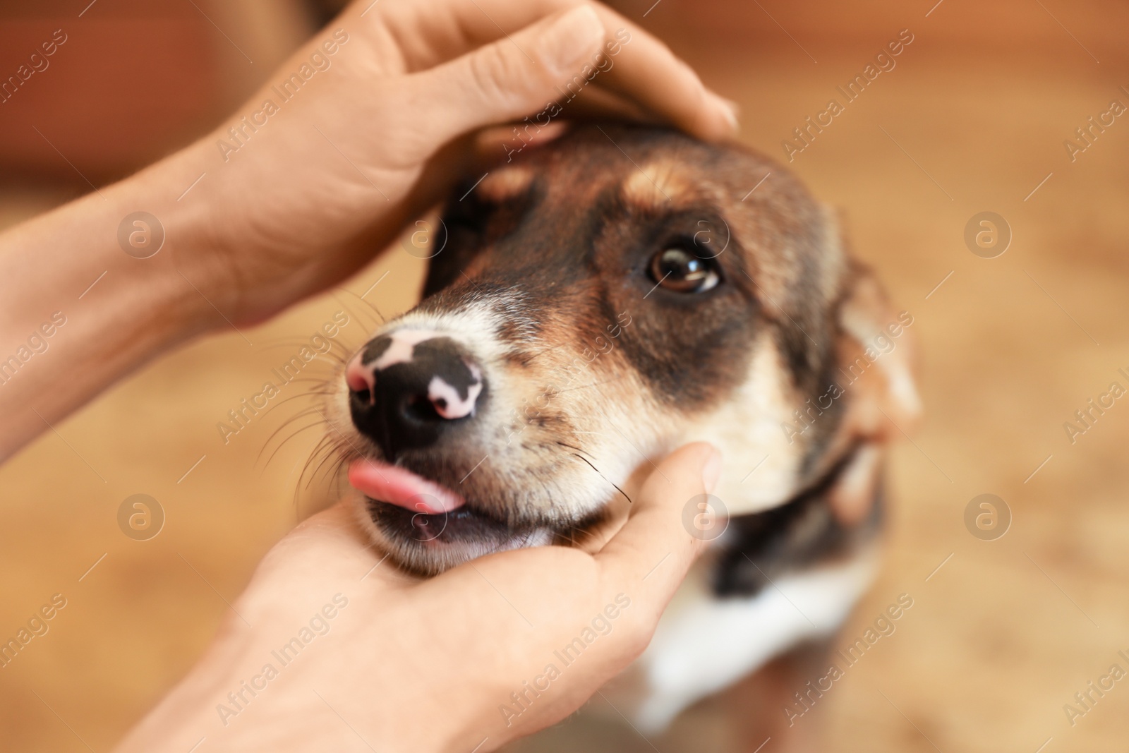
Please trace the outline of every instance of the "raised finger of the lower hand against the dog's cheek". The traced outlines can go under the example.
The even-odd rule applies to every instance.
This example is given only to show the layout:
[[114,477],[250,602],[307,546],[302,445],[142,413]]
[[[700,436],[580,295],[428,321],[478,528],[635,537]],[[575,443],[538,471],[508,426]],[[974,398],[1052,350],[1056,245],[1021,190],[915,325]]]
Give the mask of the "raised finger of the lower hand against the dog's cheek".
[[684,522],[684,510],[712,491],[720,472],[721,456],[711,445],[694,443],[675,450],[644,482],[628,522],[596,554],[605,588],[638,603],[634,614],[648,630],[702,549],[701,537],[692,536]]

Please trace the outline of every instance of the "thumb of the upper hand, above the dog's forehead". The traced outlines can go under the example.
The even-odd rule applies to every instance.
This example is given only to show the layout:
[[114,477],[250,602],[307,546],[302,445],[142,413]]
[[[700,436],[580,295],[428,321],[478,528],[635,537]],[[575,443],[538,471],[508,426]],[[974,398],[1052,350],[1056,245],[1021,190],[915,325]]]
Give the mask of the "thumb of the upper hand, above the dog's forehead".
[[579,75],[603,41],[596,12],[579,6],[419,73],[414,94],[441,143],[559,98],[557,87]]

